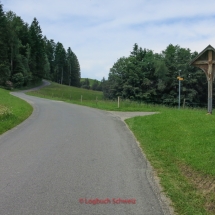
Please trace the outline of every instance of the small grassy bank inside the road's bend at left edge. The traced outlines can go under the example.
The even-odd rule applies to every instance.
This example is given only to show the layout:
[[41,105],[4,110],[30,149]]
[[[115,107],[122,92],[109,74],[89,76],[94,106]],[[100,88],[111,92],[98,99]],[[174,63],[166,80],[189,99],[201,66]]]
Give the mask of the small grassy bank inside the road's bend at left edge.
[[7,113],[0,116],[0,134],[20,124],[33,111],[31,105],[9,93],[0,89],[0,106],[7,109]]

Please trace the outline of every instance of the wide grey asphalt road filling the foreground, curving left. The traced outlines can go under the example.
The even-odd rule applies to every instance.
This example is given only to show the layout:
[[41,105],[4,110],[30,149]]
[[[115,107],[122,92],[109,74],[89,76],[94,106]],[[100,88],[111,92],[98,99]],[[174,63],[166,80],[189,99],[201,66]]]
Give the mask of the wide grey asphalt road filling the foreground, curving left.
[[14,94],[34,112],[0,136],[0,215],[164,214],[147,162],[118,117]]

